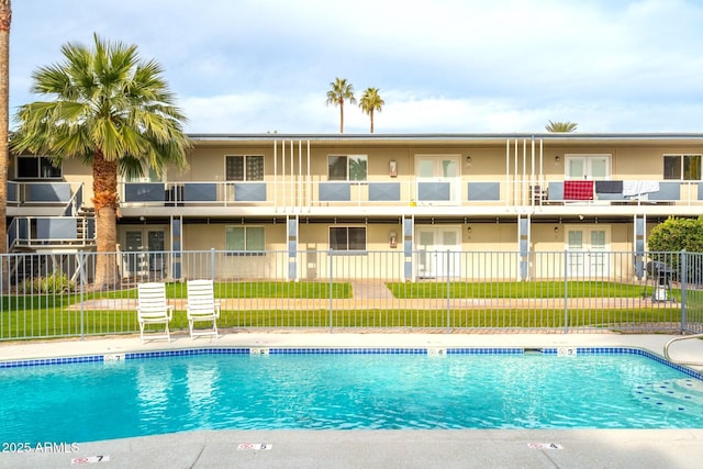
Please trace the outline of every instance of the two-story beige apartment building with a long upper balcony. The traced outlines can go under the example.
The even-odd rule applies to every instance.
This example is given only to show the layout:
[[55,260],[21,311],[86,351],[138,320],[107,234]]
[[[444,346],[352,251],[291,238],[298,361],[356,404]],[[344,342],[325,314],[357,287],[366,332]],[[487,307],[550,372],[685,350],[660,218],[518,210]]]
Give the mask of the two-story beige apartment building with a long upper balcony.
[[[550,272],[532,253],[567,250],[592,254],[568,266],[570,275],[609,277],[633,265],[603,254],[637,257],[656,223],[703,213],[703,134],[191,138],[186,170],[147,170],[121,185],[121,250],[164,253],[138,267],[164,278],[189,276],[180,253],[210,249],[290,280],[324,275],[320,253],[348,256],[372,277],[413,280],[461,276],[466,266],[446,255],[455,252],[513,253],[509,266],[486,268],[536,278]],[[10,247],[90,249],[90,174],[78,160],[54,168],[16,156]],[[398,261],[364,265],[382,250],[400,253]],[[287,261],[274,265],[271,252]],[[220,275],[246,277],[247,268]]]

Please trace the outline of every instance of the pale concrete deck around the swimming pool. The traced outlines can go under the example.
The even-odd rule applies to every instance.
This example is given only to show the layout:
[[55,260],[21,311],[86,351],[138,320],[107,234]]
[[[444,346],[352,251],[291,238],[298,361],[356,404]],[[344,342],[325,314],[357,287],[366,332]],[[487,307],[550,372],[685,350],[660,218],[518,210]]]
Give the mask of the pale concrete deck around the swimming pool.
[[[670,335],[227,332],[142,344],[138,336],[0,344],[0,360],[193,347],[637,347],[662,355]],[[678,360],[703,361],[703,340]],[[698,369],[702,369],[699,367]],[[105,423],[109,424],[109,423]],[[12,442],[2,442],[12,443]],[[19,443],[19,442],[15,442]],[[58,442],[53,442],[58,443]],[[68,442],[70,443],[70,442]],[[252,446],[246,446],[253,444]],[[255,449],[258,444],[270,448]],[[553,447],[554,444],[556,447]],[[244,445],[244,446],[242,446]],[[76,453],[0,454],[0,467],[64,468],[699,468],[703,428],[467,431],[199,431],[78,443]],[[5,448],[3,448],[5,449]],[[102,461],[97,461],[103,456]],[[109,457],[109,461],[104,460]],[[90,459],[92,458],[92,459]]]

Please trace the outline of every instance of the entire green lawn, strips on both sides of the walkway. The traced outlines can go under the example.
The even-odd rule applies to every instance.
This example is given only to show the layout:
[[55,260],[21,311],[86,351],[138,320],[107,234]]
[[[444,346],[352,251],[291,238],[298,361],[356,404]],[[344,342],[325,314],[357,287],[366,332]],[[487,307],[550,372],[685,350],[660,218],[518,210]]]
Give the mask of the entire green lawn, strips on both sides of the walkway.
[[[637,298],[639,286],[614,282],[416,282],[389,283],[389,289],[399,299],[560,299],[566,293],[574,298]],[[651,290],[646,292],[651,294]],[[674,291],[674,297],[680,292]],[[185,283],[167,283],[170,299],[185,299]],[[346,282],[219,282],[215,297],[219,299],[290,298],[290,299],[353,298],[352,286]],[[4,295],[0,303],[0,339],[26,337],[55,337],[101,335],[138,331],[135,311],[107,308],[96,310],[94,299],[136,299],[136,289],[112,292],[79,294]],[[82,303],[82,310],[79,305]],[[692,311],[703,308],[703,292],[689,291],[687,301]],[[115,304],[120,304],[116,302]],[[220,327],[505,327],[505,328],[563,328],[569,327],[620,327],[624,324],[680,322],[677,303],[641,303],[641,308],[599,309],[581,308],[567,312],[558,309],[494,309],[471,308],[457,310],[423,309],[364,309],[350,311],[288,310],[238,311],[223,310]],[[698,313],[700,314],[700,313]],[[185,311],[176,311],[172,330],[187,327]]]

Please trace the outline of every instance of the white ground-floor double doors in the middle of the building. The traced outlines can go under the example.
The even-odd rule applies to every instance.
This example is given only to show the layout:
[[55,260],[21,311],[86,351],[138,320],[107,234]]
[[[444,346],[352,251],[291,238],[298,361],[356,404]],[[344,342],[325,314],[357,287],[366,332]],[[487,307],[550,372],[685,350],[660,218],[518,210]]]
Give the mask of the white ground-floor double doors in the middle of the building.
[[417,277],[446,278],[459,275],[461,265],[461,227],[417,227]]

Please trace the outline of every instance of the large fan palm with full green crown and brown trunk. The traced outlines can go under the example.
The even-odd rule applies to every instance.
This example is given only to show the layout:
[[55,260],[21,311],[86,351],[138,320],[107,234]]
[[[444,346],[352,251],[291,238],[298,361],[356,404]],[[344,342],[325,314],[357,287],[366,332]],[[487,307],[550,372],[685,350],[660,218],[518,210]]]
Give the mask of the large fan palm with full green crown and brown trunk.
[[160,65],[142,60],[135,45],[93,38],[94,48],[65,44],[64,63],[32,74],[32,91],[53,101],[20,107],[11,147],[51,155],[55,164],[80,158],[92,167],[98,289],[118,280],[118,176],[185,167],[190,142]]

